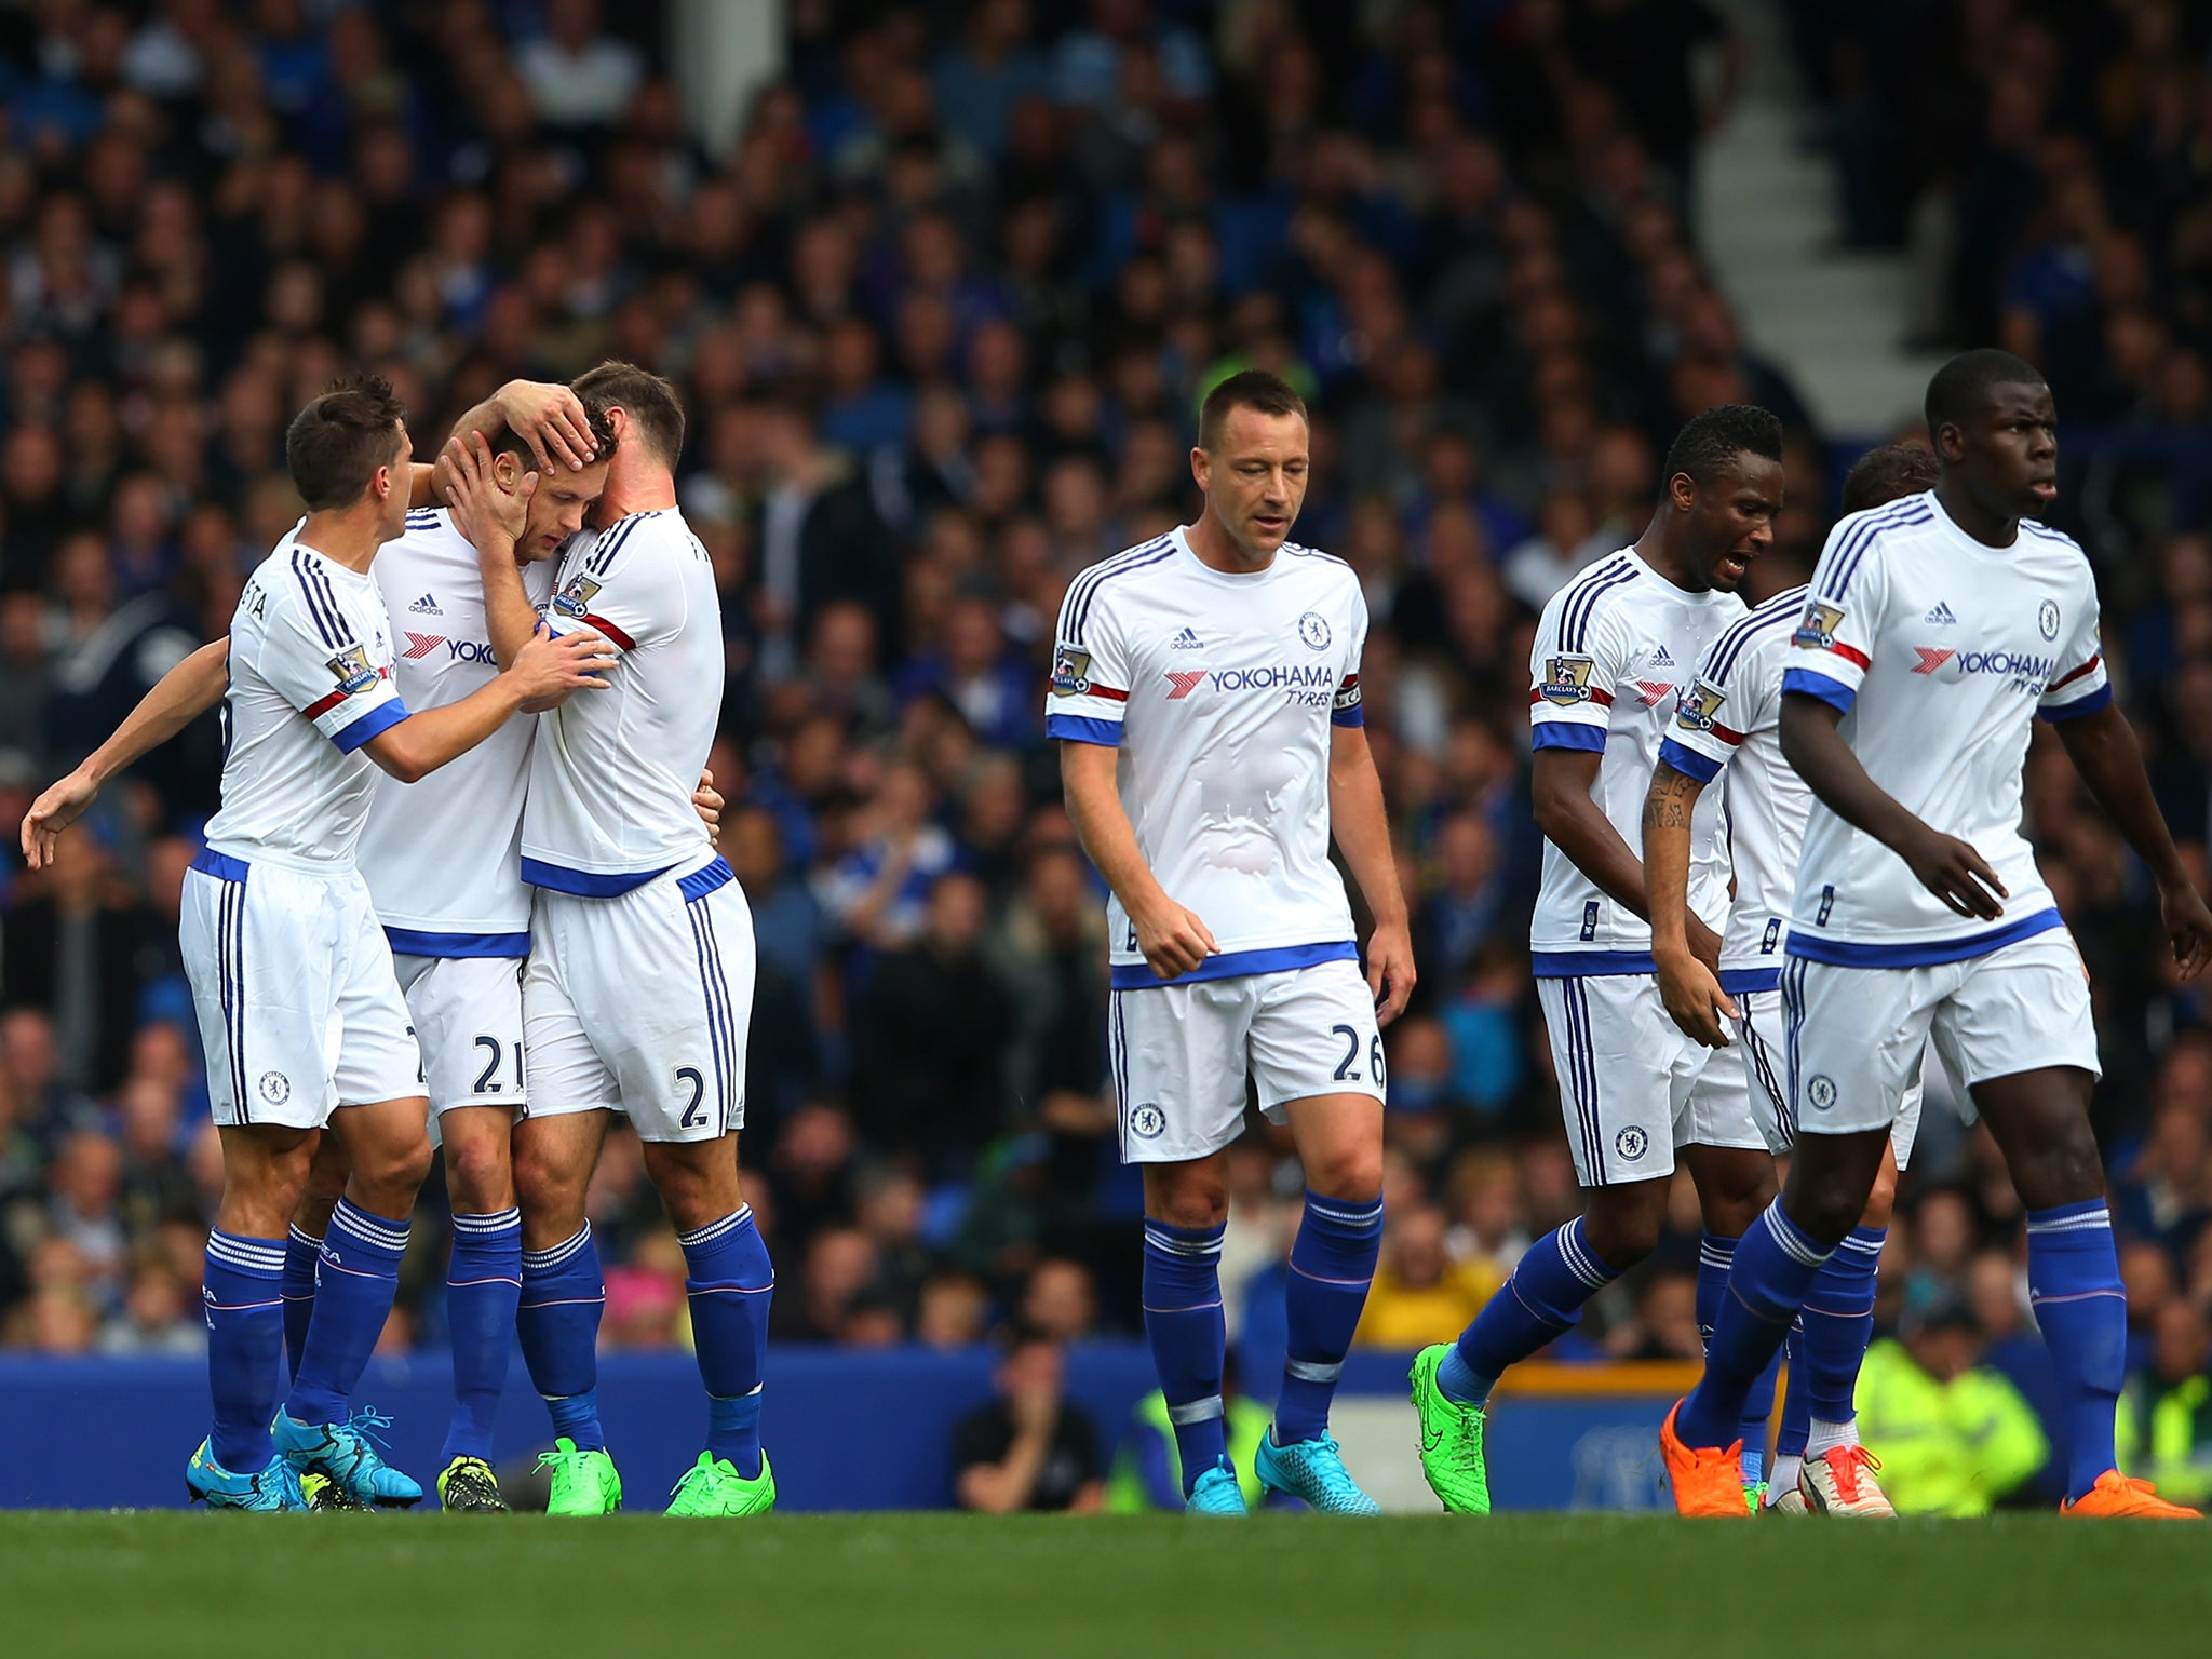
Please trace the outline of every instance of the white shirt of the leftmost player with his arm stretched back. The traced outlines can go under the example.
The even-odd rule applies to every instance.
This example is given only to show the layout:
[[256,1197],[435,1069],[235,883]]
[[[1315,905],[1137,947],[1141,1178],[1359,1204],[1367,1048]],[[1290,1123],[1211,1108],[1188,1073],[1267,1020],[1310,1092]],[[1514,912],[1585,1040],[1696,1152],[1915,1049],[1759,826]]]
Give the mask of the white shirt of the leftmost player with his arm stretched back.
[[248,863],[352,869],[378,768],[361,752],[407,719],[376,582],[285,535],[230,617],[223,805],[208,847]]

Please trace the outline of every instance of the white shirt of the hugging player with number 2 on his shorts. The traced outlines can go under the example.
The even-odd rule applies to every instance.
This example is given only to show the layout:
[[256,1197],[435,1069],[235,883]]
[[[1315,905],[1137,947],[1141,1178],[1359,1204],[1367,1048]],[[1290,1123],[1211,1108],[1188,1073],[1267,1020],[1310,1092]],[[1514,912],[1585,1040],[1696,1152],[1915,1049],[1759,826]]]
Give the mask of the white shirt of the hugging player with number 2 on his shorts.
[[560,553],[546,622],[597,628],[606,690],[538,717],[522,807],[522,880],[611,898],[712,860],[692,790],[721,714],[714,566],[675,507],[630,513]]

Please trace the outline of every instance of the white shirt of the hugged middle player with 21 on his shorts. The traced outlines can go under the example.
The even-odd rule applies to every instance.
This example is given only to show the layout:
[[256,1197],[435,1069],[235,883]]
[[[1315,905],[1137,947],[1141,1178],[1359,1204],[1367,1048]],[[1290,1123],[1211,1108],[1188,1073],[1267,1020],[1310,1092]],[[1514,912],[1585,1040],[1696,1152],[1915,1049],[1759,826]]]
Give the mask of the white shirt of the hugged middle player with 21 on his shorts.
[[[498,677],[476,549],[451,513],[407,513],[407,533],[369,573],[396,630],[392,677],[407,708],[458,703]],[[533,604],[544,604],[551,577],[551,560],[522,566]],[[533,726],[518,714],[420,783],[378,772],[361,876],[400,956],[531,953],[522,794]]]

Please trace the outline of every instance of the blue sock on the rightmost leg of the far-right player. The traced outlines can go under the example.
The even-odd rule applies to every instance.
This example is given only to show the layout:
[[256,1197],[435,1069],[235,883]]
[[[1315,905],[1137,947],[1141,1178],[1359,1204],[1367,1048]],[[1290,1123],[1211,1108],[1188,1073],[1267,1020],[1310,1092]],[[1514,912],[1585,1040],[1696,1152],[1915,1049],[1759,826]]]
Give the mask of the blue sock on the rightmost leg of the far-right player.
[[2128,1292],[2104,1199],[2028,1210],[2028,1305],[2059,1378],[2066,1502],[2115,1469],[2112,1418],[2128,1367]]

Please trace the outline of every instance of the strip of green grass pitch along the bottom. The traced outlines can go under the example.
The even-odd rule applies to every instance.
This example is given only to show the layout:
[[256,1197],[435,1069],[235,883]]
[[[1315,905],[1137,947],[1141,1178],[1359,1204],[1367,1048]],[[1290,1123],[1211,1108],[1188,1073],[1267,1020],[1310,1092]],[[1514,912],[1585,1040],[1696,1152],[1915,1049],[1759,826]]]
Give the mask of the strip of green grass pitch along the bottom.
[[7,1655],[2212,1652],[2212,1531],[0,1515]]

